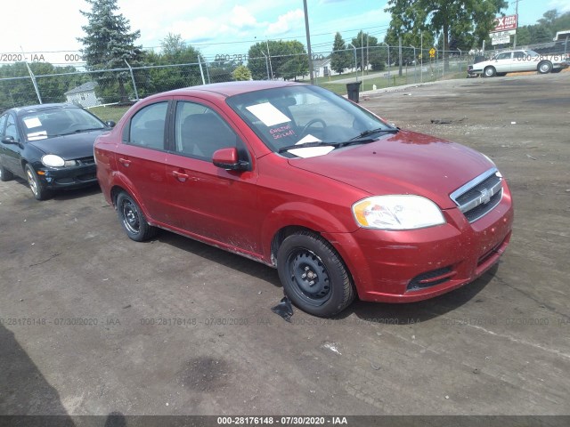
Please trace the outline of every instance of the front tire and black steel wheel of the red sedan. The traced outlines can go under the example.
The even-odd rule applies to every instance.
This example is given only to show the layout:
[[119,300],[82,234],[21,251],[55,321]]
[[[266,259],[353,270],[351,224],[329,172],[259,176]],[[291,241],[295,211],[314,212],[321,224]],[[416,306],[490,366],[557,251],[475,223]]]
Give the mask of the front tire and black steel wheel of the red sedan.
[[329,242],[312,231],[283,240],[277,270],[285,294],[299,309],[330,317],[354,300],[354,285],[345,263]]

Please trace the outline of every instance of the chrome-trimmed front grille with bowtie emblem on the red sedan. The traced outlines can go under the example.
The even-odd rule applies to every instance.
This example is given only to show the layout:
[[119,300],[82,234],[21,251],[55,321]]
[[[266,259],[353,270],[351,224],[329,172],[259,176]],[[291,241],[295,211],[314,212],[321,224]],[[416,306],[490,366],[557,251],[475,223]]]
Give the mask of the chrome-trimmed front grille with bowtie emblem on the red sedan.
[[493,167],[460,189],[453,191],[450,197],[458,205],[468,222],[476,222],[501,202],[501,173]]

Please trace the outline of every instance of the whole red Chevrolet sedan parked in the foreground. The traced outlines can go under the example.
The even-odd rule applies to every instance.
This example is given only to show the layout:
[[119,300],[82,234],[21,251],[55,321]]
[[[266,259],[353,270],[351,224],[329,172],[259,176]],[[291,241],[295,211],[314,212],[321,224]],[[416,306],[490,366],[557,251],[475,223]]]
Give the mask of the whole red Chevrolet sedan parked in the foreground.
[[509,187],[488,157],[312,85],[159,93],[99,136],[94,154],[129,238],[161,228],[264,262],[317,316],[356,295],[444,294],[509,244]]

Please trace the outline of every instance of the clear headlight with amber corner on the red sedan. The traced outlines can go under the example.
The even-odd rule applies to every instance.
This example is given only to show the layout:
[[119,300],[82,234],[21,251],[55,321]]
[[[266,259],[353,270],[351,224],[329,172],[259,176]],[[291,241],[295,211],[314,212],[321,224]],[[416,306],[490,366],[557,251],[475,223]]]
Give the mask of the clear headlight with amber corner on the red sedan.
[[445,223],[444,214],[426,197],[374,196],[353,205],[356,223],[365,229],[414,230]]

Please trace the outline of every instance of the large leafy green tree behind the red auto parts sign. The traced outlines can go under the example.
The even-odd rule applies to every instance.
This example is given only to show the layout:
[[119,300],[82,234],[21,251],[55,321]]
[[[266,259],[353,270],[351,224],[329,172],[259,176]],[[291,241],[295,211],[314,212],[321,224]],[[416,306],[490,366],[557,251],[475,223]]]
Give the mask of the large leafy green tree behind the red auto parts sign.
[[[485,40],[495,16],[507,7],[504,0],[388,0],[395,28],[402,31],[429,29],[443,36],[444,67],[448,67],[452,29],[467,32],[476,43]],[[396,27],[397,26],[397,27]]]

